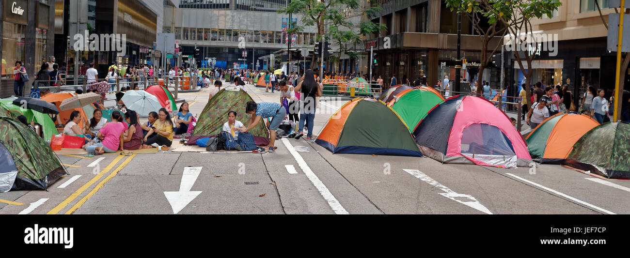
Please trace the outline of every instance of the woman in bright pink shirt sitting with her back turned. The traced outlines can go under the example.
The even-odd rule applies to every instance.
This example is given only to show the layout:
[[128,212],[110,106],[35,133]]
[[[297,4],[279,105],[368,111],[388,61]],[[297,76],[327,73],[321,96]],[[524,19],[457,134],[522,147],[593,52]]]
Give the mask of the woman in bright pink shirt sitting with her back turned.
[[119,111],[112,112],[112,122],[107,123],[98,131],[98,138],[103,140],[100,143],[91,145],[85,150],[94,155],[101,155],[105,152],[113,153],[118,149],[125,151],[123,148],[123,132],[127,130],[127,125],[122,123],[122,116]]

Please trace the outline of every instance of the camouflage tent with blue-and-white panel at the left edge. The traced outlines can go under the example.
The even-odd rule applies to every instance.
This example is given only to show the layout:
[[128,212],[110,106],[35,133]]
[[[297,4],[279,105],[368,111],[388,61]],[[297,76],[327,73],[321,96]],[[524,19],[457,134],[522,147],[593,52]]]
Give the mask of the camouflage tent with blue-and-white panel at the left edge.
[[0,118],[0,192],[47,189],[66,174],[45,140],[11,118]]

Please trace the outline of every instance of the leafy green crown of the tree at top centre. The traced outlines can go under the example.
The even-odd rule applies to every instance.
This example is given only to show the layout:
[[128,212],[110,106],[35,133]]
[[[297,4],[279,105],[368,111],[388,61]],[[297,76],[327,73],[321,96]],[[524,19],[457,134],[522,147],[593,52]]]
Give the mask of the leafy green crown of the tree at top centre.
[[[333,40],[340,46],[340,53],[347,52],[345,43],[358,43],[361,36],[376,31],[385,30],[386,25],[373,23],[372,21],[352,21],[344,10],[358,10],[359,15],[379,13],[382,8],[377,1],[369,1],[369,7],[360,9],[359,0],[292,0],[287,8],[278,10],[278,13],[301,13],[301,25],[293,26],[287,33],[304,31],[306,26],[317,28],[316,41]],[[338,59],[340,59],[338,55]],[[321,60],[313,55],[311,69]]]

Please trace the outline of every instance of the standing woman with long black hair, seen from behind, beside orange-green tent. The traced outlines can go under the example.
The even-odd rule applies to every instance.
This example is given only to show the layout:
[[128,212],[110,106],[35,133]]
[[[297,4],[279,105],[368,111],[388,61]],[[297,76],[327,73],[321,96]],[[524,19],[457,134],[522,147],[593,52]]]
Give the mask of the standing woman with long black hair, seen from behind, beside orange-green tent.
[[302,101],[304,101],[304,108],[302,108],[302,113],[300,113],[300,122],[295,138],[299,139],[304,135],[302,128],[306,125],[309,130],[306,135],[306,140],[312,140],[313,123],[317,109],[316,97],[321,97],[321,87],[319,87],[318,82],[315,81],[315,75],[311,69],[306,70],[306,74],[302,76],[302,80],[297,84],[294,91],[296,93],[298,91],[301,92]]

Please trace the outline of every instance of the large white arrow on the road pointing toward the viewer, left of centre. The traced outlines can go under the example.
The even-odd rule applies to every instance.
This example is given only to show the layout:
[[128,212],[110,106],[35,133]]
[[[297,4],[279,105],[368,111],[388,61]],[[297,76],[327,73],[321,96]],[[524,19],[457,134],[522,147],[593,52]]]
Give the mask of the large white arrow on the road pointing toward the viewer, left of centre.
[[173,208],[173,213],[177,214],[183,208],[188,205],[193,199],[202,191],[190,191],[193,188],[193,184],[197,181],[197,177],[201,172],[202,167],[185,167],[184,172],[181,175],[180,191],[176,192],[164,192],[168,203]]

